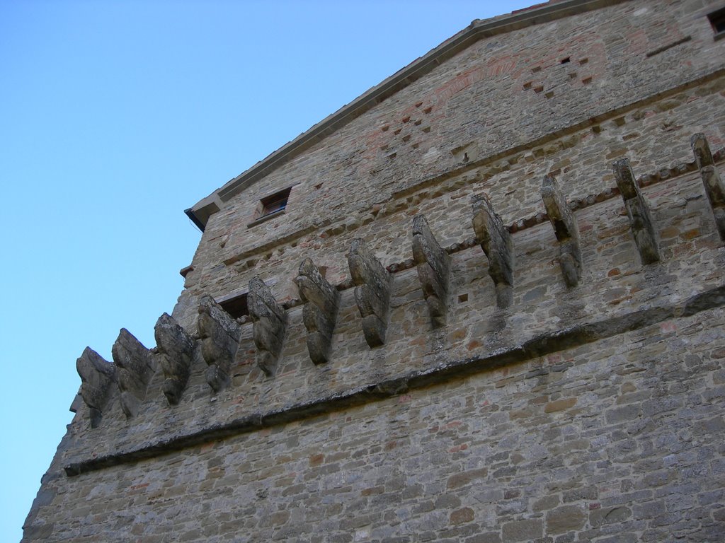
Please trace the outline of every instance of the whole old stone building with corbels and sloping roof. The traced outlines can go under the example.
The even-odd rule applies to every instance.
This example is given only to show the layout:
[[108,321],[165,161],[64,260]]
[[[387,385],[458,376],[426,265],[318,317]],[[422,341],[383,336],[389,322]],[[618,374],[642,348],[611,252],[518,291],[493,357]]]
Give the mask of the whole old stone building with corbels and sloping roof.
[[23,541],[723,541],[724,35],[476,20],[188,209]]

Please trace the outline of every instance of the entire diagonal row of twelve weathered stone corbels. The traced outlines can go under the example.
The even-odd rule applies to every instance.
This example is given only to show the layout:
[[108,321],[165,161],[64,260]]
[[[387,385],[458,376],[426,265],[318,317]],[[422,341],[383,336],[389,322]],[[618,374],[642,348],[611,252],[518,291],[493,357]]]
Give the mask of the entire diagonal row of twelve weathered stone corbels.
[[[703,178],[705,193],[718,232],[725,240],[725,186],[715,167],[708,142],[703,134],[691,140],[697,167]],[[658,240],[650,209],[627,159],[614,163],[619,193],[629,216],[629,224],[642,264],[660,260]],[[575,287],[581,279],[581,249],[576,219],[553,175],[544,177],[541,188],[547,216],[559,245],[559,262],[564,281]],[[513,241],[508,227],[494,211],[486,195],[473,195],[473,230],[488,259],[497,306],[506,308],[513,299]],[[450,256],[439,245],[428,227],[425,216],[413,219],[413,259],[434,328],[446,323],[450,288]],[[365,341],[370,348],[384,345],[388,324],[392,274],[385,269],[362,239],[352,242],[347,254],[355,302],[360,311]],[[294,279],[304,303],[302,321],[307,329],[307,350],[315,364],[329,358],[333,332],[339,311],[340,295],[310,258],[299,266]],[[249,316],[253,323],[253,340],[257,348],[257,365],[268,376],[274,374],[280,358],[287,325],[287,313],[260,277],[249,282],[247,295]],[[157,369],[164,375],[162,391],[168,403],[181,399],[197,354],[206,361],[207,382],[219,392],[231,382],[231,368],[239,347],[241,327],[208,295],[199,303],[196,337],[188,334],[164,313],[154,327],[156,348],[149,350],[132,334],[122,329],[112,348],[114,363],[105,361],[91,348],[78,358],[76,367],[81,378],[80,395],[88,405],[91,426],[97,426],[115,391],[128,418],[136,416],[146,398],[149,381]]]

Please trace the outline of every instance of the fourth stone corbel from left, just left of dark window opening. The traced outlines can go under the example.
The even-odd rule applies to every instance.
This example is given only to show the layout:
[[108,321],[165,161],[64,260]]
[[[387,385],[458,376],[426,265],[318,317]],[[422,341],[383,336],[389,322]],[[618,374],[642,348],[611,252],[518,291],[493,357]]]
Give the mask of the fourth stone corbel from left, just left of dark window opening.
[[214,392],[228,387],[231,364],[239,347],[239,324],[210,295],[199,302],[196,322],[202,340],[202,356],[209,364],[207,383]]

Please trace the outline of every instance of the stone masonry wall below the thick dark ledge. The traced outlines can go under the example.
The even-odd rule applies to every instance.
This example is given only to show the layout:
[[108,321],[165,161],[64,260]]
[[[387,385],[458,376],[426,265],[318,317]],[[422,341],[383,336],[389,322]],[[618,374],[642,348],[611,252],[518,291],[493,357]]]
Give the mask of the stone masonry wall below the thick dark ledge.
[[59,476],[45,485],[57,492],[38,515],[46,531],[33,535],[721,541],[724,325],[718,308],[357,408]]

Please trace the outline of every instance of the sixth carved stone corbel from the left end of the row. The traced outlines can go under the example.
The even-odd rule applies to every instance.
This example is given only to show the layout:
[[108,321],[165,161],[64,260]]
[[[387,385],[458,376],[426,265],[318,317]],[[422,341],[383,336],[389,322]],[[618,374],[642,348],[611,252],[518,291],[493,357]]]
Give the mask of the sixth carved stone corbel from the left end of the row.
[[335,329],[340,294],[322,276],[310,258],[299,265],[299,274],[294,279],[299,297],[305,302],[302,321],[307,328],[307,351],[315,364],[328,361],[332,332]]

